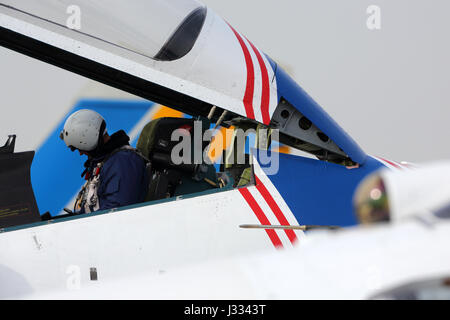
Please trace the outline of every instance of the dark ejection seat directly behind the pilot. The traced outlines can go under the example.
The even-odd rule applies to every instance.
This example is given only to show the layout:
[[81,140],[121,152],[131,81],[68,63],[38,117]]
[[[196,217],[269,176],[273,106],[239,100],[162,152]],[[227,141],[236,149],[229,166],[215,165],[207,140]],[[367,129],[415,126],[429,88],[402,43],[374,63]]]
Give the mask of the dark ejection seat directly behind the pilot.
[[[198,124],[195,126],[195,121],[200,121],[201,126]],[[203,152],[209,142],[200,138],[202,141],[201,163],[198,161],[198,155],[197,159],[194,159],[194,128],[200,127],[201,132],[196,134],[203,137],[203,133],[209,129],[209,126],[208,119],[171,117],[155,119],[145,125],[136,145],[136,148],[151,161],[152,165],[151,182],[145,201],[177,197],[220,187],[214,165],[207,164],[203,160]],[[191,156],[187,163],[175,164],[172,160],[172,150],[181,143],[171,139],[172,133],[177,129],[184,129],[185,133],[189,132]]]

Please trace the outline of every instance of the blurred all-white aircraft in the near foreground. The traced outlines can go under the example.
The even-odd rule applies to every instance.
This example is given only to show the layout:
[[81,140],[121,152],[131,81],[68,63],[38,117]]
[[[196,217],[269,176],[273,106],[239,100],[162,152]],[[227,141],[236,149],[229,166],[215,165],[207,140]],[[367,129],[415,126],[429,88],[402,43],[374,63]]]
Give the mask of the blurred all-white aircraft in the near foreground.
[[[83,285],[74,266],[66,290],[29,290],[18,297],[448,300],[450,189],[442,182],[449,175],[448,162],[426,164],[414,171],[380,170],[357,188],[354,205],[363,225],[312,230],[290,250],[197,261],[158,274],[99,277]],[[412,182],[414,187],[407,188]],[[438,187],[442,188],[436,195],[433,190]],[[17,284],[16,278],[10,279]],[[201,303],[194,305],[200,308]],[[264,314],[247,306],[229,309],[219,305],[212,302],[208,306],[214,309],[208,310],[222,316]],[[185,311],[193,313],[192,306],[186,304]]]

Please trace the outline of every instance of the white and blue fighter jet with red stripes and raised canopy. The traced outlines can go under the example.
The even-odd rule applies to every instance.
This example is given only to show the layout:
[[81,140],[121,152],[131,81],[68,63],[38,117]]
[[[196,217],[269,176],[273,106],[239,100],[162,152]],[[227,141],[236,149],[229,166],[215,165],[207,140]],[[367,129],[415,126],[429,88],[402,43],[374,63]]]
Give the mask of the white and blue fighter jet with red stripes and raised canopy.
[[[156,176],[182,176],[170,189],[158,187],[151,201],[128,207],[58,218],[50,212],[45,221],[47,204],[64,206],[72,194],[36,203],[35,182],[72,170],[44,157],[33,170],[51,174],[30,181],[34,151],[15,153],[20,137],[11,136],[0,149],[2,297],[66,290],[72,277],[84,286],[291,248],[305,238],[297,226],[358,224],[352,199],[366,176],[408,169],[367,155],[275,61],[198,1],[1,0],[0,44],[192,117],[159,122],[150,133],[158,143],[143,146]],[[121,108],[133,112],[129,128],[144,127],[148,103]],[[201,157],[191,166],[167,160],[173,130],[195,122],[202,135],[211,126],[232,131],[218,170]],[[252,146],[245,134],[239,141],[248,130]],[[210,139],[199,141],[202,152],[210,148]],[[310,157],[274,152],[276,143]]]

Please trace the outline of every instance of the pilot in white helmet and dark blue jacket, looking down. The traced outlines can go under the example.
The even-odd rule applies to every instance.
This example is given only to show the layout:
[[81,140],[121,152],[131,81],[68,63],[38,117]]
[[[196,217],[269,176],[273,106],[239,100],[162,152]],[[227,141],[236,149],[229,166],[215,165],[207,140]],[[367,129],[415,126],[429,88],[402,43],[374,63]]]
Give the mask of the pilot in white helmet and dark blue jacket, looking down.
[[146,196],[150,163],[129,145],[123,130],[109,135],[103,117],[79,110],[66,120],[60,138],[72,150],[86,155],[87,181],[74,205],[74,213],[89,213],[142,202]]

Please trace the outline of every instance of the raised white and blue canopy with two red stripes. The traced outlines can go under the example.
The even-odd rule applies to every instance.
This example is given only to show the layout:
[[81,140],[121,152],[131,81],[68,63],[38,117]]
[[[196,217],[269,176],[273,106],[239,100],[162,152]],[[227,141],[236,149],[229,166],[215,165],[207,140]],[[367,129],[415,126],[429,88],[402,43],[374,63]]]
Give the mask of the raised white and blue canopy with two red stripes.
[[0,0],[0,44],[187,114],[216,106],[213,121],[226,110],[225,121],[277,128],[283,143],[321,159],[366,158],[274,61],[195,0]]

